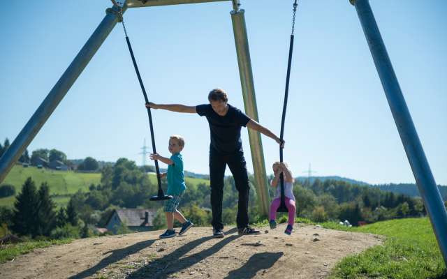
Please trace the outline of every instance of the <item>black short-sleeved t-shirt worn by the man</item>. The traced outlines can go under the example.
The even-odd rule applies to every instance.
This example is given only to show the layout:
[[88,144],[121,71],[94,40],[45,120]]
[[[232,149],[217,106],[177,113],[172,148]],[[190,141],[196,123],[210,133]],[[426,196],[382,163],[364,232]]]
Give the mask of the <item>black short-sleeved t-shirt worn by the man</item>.
[[240,128],[247,126],[250,121],[249,116],[229,104],[225,116],[214,112],[210,104],[198,105],[196,112],[200,116],[206,116],[210,125],[210,151],[217,151],[221,155],[242,151]]

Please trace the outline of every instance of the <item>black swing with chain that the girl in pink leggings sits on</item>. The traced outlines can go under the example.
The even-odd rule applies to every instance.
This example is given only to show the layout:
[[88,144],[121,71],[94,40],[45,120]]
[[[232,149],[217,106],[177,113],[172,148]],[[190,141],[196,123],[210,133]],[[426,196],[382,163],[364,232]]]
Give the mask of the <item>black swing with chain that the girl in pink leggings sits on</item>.
[[[297,3],[298,0],[295,0],[293,3],[293,19],[292,19],[292,33],[291,33],[291,41],[290,45],[288,47],[288,64],[287,64],[287,76],[286,76],[286,91],[284,93],[284,105],[282,107],[282,118],[281,118],[281,133],[279,135],[279,138],[281,139],[281,142],[284,140],[284,122],[286,121],[286,110],[287,110],[287,99],[288,99],[288,84],[291,77],[291,64],[292,64],[292,54],[293,54],[293,32],[295,31],[295,15],[296,15],[296,8],[298,6]],[[283,148],[279,147],[279,161],[283,162]],[[280,176],[281,180],[281,204],[279,206],[279,209],[277,211],[279,212],[288,212],[285,202],[285,195],[284,195],[284,175],[281,172]]]

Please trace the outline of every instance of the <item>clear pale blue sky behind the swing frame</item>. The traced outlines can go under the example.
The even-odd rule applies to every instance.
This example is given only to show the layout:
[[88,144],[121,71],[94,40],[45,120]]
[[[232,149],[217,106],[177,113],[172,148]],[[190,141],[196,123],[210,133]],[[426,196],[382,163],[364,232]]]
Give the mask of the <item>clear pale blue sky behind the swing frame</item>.
[[[293,1],[242,0],[259,121],[279,135]],[[298,1],[284,139],[295,176],[414,183],[379,76],[348,0]],[[371,0],[425,155],[447,185],[447,1]],[[12,142],[105,16],[110,1],[9,1],[0,23],[0,142]],[[214,88],[243,110],[230,1],[131,8],[126,28],[149,99],[207,103]],[[186,141],[184,167],[208,173],[210,133],[196,114],[153,112],[157,151]],[[28,146],[142,164],[151,150],[144,99],[117,24]],[[253,172],[248,133],[242,141]],[[277,144],[263,136],[268,173]],[[149,159],[147,159],[149,161]],[[162,164],[163,167],[163,164]],[[230,172],[227,169],[227,174]]]

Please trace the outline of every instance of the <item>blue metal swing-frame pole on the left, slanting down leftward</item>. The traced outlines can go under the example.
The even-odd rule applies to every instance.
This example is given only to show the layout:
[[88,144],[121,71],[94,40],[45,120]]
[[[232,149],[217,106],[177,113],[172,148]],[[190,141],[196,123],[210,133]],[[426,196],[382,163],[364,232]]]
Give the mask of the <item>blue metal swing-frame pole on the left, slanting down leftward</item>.
[[[124,13],[125,8],[123,9]],[[73,59],[70,66],[65,70],[59,81],[48,93],[47,97],[41,105],[34,112],[31,119],[24,126],[19,135],[15,138],[13,143],[9,146],[6,152],[0,158],[0,183],[5,179],[6,175],[13,167],[14,163],[20,158],[27,146],[31,143],[38,131],[41,130],[43,124],[50,117],[57,105],[64,98],[68,89],[71,88],[75,80],[78,79],[82,70],[87,66],[96,51],[101,47],[101,44],[107,38],[110,31],[112,31],[115,24],[119,22],[119,8],[113,6],[108,8],[107,15],[103,21],[98,25],[93,34],[91,34],[87,43],[80,50],[78,55]]]

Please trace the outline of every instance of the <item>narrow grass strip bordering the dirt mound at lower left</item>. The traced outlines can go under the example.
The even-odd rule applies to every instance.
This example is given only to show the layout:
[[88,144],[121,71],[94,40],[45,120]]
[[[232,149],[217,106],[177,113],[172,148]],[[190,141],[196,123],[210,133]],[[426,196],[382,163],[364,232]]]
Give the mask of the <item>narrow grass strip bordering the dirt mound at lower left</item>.
[[0,263],[7,262],[15,257],[27,254],[37,248],[45,248],[52,245],[61,245],[70,243],[72,239],[58,239],[48,241],[27,241],[16,244],[6,244],[0,246]]

